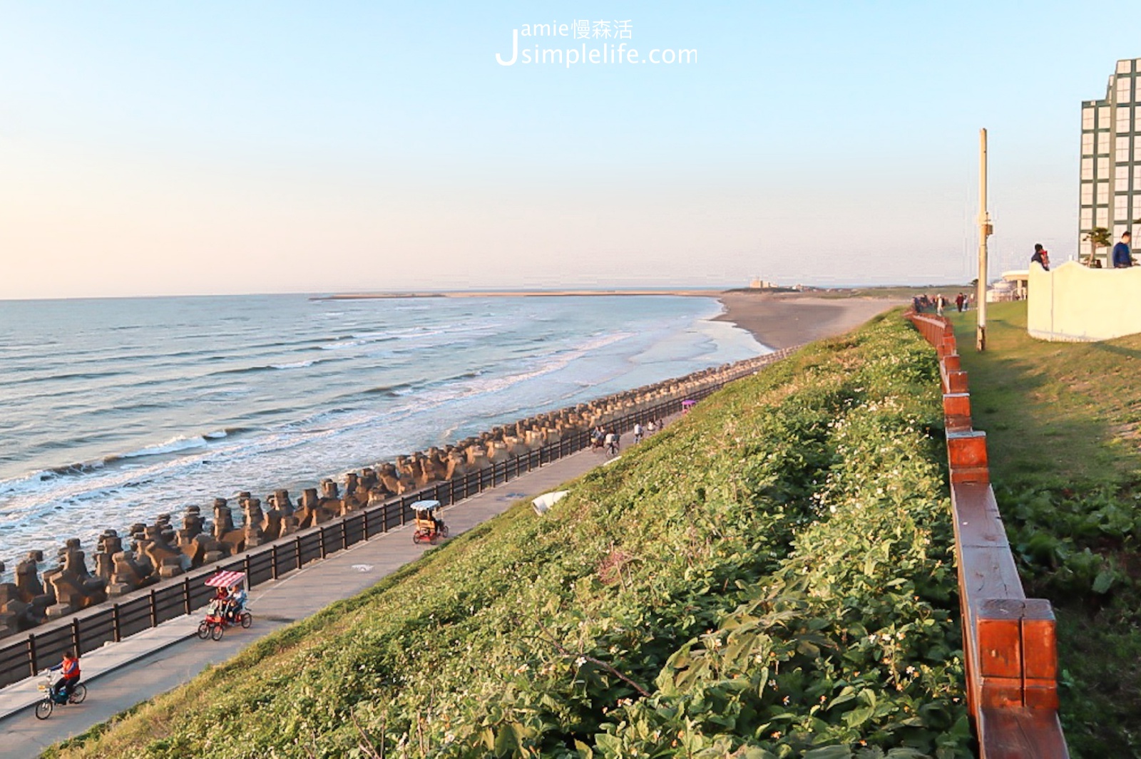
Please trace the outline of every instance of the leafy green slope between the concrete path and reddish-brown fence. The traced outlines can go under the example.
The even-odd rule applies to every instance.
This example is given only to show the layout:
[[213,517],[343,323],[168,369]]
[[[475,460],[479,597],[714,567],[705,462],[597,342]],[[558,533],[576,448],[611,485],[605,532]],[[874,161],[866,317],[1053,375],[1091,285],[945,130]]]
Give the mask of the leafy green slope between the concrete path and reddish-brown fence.
[[877,318],[51,756],[969,756],[940,426]]

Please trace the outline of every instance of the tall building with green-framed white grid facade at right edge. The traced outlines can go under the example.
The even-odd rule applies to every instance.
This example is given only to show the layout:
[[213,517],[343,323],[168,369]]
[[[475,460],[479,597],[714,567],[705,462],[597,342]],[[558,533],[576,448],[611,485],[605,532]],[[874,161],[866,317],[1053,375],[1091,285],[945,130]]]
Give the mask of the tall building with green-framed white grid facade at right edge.
[[[1082,103],[1082,195],[1078,250],[1090,255],[1084,238],[1104,227],[1112,240],[1132,231],[1141,219],[1141,58],[1118,60],[1102,100]],[[1106,259],[1109,248],[1099,248]]]

